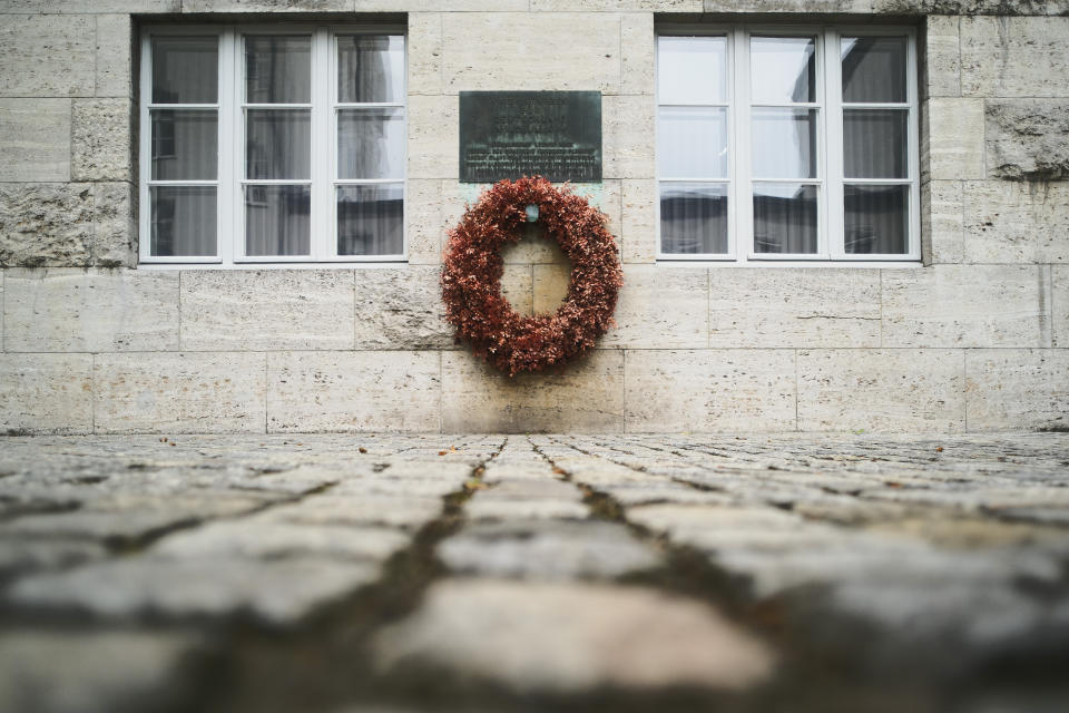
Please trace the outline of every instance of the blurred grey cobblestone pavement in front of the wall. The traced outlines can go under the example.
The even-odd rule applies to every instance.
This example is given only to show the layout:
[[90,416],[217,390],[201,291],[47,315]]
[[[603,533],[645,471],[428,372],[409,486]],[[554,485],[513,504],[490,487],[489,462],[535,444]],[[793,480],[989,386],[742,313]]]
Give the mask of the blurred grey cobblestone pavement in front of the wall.
[[0,439],[0,710],[1065,711],[1069,434]]

